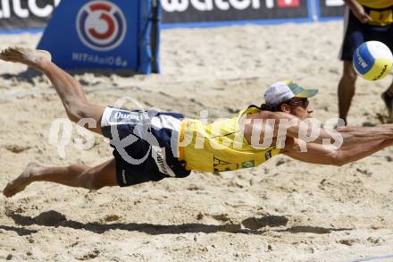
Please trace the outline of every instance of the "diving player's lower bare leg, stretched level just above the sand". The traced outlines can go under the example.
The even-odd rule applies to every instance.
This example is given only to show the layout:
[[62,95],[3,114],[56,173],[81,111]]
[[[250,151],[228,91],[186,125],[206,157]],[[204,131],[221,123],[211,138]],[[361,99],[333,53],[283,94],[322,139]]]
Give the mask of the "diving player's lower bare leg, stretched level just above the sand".
[[99,190],[107,186],[116,186],[116,166],[114,159],[101,165],[70,165],[64,167],[46,167],[30,163],[25,171],[3,190],[5,197],[10,198],[24,190],[32,182],[55,182],[66,186]]

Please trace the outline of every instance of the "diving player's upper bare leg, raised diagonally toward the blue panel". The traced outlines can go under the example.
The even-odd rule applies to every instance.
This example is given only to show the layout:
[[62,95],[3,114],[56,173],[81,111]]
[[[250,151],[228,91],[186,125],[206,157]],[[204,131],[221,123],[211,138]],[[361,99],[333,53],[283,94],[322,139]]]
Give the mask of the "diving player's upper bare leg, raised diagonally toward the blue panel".
[[62,99],[65,111],[71,121],[77,123],[82,118],[92,118],[96,121],[96,127],[86,128],[101,134],[100,120],[105,107],[88,103],[79,81],[52,63],[51,55],[48,52],[23,47],[9,47],[0,53],[0,59],[23,63],[43,72]]

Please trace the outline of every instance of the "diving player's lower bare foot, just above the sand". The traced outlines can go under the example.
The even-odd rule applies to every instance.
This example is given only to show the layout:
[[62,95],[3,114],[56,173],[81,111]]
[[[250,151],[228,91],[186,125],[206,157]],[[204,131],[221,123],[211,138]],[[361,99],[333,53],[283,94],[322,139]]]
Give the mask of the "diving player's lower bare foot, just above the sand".
[[26,166],[25,171],[21,173],[16,179],[12,182],[9,182],[4,190],[3,194],[6,198],[11,198],[16,193],[21,192],[24,190],[31,182],[34,181],[35,174],[42,169],[42,165],[38,165],[36,163],[30,163]]

